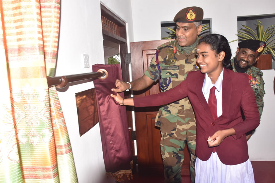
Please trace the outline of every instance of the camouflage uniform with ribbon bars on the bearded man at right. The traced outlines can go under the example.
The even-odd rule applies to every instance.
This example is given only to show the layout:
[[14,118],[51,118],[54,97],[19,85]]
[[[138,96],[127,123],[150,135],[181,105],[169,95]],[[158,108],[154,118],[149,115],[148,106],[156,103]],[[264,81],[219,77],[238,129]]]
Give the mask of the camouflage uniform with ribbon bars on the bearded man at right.
[[[233,66],[233,71],[237,72],[234,66],[234,59],[235,57],[231,60],[231,65]],[[266,94],[264,89],[265,82],[262,79],[263,73],[257,67],[252,66],[245,72],[245,74],[248,74],[250,85],[255,93],[255,98],[261,118],[264,106],[263,96]]]

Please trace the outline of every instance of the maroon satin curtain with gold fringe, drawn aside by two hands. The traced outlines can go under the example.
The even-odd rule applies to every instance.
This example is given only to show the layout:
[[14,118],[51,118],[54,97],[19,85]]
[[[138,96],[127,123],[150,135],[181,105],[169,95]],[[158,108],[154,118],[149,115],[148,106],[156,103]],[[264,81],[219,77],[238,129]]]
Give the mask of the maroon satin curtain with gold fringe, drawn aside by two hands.
[[[94,80],[97,95],[99,127],[101,134],[103,158],[107,175],[115,177],[117,181],[123,175],[132,178],[132,152],[128,131],[126,107],[120,106],[110,94],[116,88],[116,79],[122,80],[120,64],[92,66],[93,72],[105,69],[108,77],[105,80]],[[124,93],[120,93],[124,97]]]

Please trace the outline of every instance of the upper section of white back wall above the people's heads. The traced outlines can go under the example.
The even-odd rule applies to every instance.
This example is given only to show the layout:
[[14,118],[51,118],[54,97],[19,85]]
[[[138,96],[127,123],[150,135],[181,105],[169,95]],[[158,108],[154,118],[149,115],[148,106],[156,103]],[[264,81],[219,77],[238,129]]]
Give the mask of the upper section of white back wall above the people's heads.
[[[274,13],[273,0],[131,0],[133,12],[134,41],[160,40],[160,22],[173,21],[181,9],[199,6],[204,9],[204,18],[212,18],[212,33],[222,34],[229,41],[237,39],[237,16]],[[232,51],[237,41],[230,44]]]

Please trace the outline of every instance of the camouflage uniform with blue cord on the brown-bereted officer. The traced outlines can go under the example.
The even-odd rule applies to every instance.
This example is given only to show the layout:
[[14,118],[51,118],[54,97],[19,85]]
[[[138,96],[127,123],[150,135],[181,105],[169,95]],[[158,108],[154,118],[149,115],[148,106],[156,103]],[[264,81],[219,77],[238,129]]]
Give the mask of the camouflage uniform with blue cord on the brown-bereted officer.
[[[181,50],[177,41],[170,41],[159,48],[158,59],[161,68],[161,83],[171,84],[167,90],[174,88],[185,80],[189,71],[199,70],[196,66],[196,48],[189,55]],[[156,64],[156,55],[152,58],[145,75],[158,81],[159,70]],[[181,182],[181,167],[184,160],[185,141],[191,154],[191,180],[195,179],[195,147],[196,147],[196,120],[193,108],[188,98],[170,103],[160,108],[156,116],[155,126],[161,131],[161,154],[164,165],[165,182]]]

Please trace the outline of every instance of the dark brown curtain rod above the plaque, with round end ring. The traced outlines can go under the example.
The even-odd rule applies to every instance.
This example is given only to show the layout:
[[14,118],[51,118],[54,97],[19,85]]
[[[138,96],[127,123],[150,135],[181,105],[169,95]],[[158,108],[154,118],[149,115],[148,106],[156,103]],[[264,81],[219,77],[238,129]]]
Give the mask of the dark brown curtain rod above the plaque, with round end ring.
[[66,76],[47,76],[48,87],[55,86],[56,88],[64,88],[68,83],[75,81],[82,81],[86,79],[92,79],[98,77],[99,79],[106,79],[108,72],[105,69],[100,69],[97,72],[84,73],[84,74],[73,74]]

